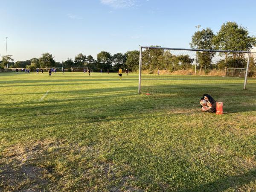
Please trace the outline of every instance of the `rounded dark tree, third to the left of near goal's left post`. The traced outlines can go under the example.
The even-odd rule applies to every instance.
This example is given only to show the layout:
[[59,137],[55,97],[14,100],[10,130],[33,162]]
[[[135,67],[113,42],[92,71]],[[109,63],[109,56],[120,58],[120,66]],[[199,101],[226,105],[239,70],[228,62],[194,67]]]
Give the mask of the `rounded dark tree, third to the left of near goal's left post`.
[[112,69],[113,57],[111,56],[110,52],[107,52],[107,51],[99,52],[97,54],[97,60],[98,60],[99,69],[102,69],[103,71]]

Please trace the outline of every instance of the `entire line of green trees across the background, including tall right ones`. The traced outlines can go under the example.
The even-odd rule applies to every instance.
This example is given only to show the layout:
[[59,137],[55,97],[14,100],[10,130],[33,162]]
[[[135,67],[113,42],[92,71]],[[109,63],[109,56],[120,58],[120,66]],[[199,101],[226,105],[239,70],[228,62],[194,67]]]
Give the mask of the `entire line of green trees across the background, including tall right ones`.
[[[250,36],[247,28],[239,26],[236,22],[223,23],[221,29],[215,34],[212,29],[206,28],[197,31],[192,35],[190,47],[192,49],[220,49],[250,51],[256,46],[256,38]],[[153,46],[152,46],[153,47]],[[157,46],[154,46],[157,47]],[[74,59],[67,58],[66,61],[56,62],[50,53],[43,53],[40,58],[32,58],[27,61],[13,62],[12,55],[2,56],[0,66],[4,67],[9,63],[10,67],[36,68],[64,67],[90,67],[92,70],[116,71],[119,67],[130,71],[137,71],[139,68],[139,51],[128,51],[124,54],[102,51],[97,54],[97,58],[92,55],[79,53]],[[149,49],[143,51],[143,70],[186,70],[193,67],[195,58],[190,55],[172,54],[171,51],[163,49]],[[246,65],[244,54],[227,52],[220,53],[222,59],[217,63],[212,62],[216,52],[196,52],[197,68],[224,69],[227,67],[239,68]],[[250,58],[253,61],[253,58]],[[254,67],[256,67],[256,64]],[[195,65],[194,65],[195,67]]]

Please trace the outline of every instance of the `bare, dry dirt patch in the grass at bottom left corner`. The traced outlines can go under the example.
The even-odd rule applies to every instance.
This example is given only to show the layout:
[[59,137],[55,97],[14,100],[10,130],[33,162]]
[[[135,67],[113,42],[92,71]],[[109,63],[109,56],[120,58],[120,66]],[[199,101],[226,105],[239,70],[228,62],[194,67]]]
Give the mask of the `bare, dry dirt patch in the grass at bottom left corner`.
[[44,178],[46,169],[36,165],[49,140],[39,141],[31,146],[21,144],[6,148],[0,159],[0,191],[44,191],[49,183]]

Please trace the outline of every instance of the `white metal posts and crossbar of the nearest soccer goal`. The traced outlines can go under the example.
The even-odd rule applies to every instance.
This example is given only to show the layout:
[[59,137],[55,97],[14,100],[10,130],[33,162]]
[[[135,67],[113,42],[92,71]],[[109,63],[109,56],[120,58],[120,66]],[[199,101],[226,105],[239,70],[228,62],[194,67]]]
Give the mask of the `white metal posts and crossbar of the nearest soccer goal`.
[[[183,48],[170,48],[170,47],[149,47],[149,46],[140,46],[140,57],[139,57],[139,88],[138,93],[141,93],[141,71],[142,71],[142,58],[145,55],[142,55],[143,49],[164,49],[164,50],[179,50],[179,51],[203,51],[203,52],[236,52],[236,53],[248,53],[247,58],[247,65],[246,65],[246,71],[244,76],[244,90],[246,89],[247,84],[247,76],[248,76],[248,70],[249,70],[249,64],[250,64],[250,51],[232,51],[232,50],[214,50],[214,49],[183,49]],[[145,53],[147,54],[147,53]],[[195,69],[196,69],[196,63],[195,63]]]

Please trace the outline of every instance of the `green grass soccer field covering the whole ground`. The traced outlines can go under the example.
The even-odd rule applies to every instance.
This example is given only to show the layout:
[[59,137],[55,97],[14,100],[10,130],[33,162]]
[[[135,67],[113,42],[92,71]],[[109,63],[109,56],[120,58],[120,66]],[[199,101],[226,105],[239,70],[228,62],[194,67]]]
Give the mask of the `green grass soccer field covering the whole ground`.
[[156,78],[0,73],[0,191],[256,191],[255,81]]

